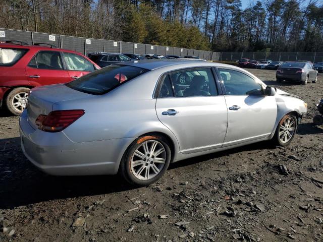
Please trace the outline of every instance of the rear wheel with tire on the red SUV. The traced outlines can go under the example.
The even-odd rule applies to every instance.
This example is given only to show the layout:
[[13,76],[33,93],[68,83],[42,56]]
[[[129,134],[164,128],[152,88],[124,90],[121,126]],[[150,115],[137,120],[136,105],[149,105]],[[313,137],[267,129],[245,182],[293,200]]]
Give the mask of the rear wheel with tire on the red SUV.
[[29,91],[27,87],[17,87],[9,92],[6,97],[6,106],[12,114],[20,115],[26,108]]

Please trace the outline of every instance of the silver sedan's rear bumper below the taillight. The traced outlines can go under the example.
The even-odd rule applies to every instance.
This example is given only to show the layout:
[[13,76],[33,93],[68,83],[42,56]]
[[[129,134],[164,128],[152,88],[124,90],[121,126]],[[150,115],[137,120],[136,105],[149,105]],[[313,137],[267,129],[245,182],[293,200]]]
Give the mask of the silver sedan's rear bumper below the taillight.
[[129,139],[72,142],[63,132],[33,129],[24,111],[19,119],[21,148],[38,169],[51,175],[116,174],[120,147]]

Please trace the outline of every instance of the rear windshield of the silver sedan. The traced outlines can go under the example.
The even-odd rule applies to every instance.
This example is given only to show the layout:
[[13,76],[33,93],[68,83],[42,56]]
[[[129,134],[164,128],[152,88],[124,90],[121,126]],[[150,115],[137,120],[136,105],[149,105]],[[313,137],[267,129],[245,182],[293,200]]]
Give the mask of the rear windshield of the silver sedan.
[[66,86],[81,92],[101,95],[147,71],[138,67],[112,65],[69,82]]

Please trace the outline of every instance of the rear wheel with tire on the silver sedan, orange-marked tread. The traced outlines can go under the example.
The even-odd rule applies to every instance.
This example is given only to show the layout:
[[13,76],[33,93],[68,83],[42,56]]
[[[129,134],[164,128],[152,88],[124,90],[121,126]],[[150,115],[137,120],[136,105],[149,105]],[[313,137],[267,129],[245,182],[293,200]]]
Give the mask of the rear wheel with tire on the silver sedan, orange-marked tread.
[[141,136],[126,151],[120,172],[129,184],[148,186],[165,174],[171,155],[169,143],[164,137]]

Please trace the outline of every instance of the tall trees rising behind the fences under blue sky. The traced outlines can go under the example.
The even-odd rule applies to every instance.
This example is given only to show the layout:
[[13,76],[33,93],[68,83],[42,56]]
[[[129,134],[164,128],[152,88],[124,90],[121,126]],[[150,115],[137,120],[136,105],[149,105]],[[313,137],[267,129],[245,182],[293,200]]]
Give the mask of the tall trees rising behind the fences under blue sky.
[[213,51],[323,51],[321,0],[2,0],[0,27]]

